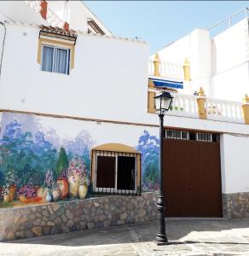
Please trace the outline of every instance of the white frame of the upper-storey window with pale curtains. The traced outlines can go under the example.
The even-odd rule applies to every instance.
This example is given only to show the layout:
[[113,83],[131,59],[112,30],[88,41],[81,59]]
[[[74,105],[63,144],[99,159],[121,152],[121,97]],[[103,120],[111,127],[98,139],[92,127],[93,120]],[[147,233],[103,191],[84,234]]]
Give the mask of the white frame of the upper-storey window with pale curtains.
[[[52,59],[52,71],[43,70],[43,47],[44,46],[54,49],[53,59]],[[66,49],[67,50],[67,73],[55,72],[55,52],[57,51],[57,49]],[[63,47],[61,45],[42,44],[40,71],[46,72],[46,73],[59,73],[62,75],[70,75],[70,70],[71,70],[71,49],[70,48]]]

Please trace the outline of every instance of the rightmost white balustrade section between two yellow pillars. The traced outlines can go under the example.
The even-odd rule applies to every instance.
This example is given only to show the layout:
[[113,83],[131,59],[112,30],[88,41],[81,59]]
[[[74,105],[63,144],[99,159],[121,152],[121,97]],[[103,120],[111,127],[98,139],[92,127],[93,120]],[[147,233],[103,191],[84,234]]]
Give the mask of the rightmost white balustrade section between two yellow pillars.
[[206,98],[206,117],[212,120],[244,123],[242,103]]

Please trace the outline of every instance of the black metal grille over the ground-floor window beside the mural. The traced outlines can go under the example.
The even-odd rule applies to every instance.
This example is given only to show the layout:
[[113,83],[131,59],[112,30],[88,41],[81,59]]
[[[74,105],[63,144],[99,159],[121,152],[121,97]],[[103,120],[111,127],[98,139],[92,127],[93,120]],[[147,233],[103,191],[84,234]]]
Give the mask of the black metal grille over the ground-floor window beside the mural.
[[[95,155],[95,156],[94,156]],[[137,170],[137,166],[141,169],[141,157],[138,157],[140,154],[134,154],[134,153],[120,153],[120,152],[112,152],[112,151],[101,151],[101,150],[95,150],[95,154],[92,154],[92,158],[95,157],[95,165],[92,166],[92,174],[94,175],[94,182],[91,183],[91,192],[92,194],[105,194],[105,195],[141,195],[141,171]],[[107,160],[106,166],[104,166],[104,173],[107,175],[114,175],[114,177],[107,177],[107,175],[104,175],[104,173],[98,172],[100,170],[100,159],[101,157],[109,157],[115,159],[115,172],[109,172],[110,169],[113,168],[113,160]],[[125,170],[123,167],[119,168],[119,157],[127,157],[128,158],[134,158],[134,168],[130,170]],[[98,159],[99,158],[99,159]],[[124,158],[123,163],[124,163]],[[93,159],[92,159],[93,160]],[[137,161],[139,160],[139,165],[137,165]],[[109,165],[109,166],[108,166]],[[121,171],[120,171],[121,169]],[[103,170],[103,168],[101,168]],[[107,172],[105,172],[105,170]],[[122,177],[122,172],[125,173],[126,177]],[[130,173],[129,173],[130,172]],[[137,186],[137,173],[140,173],[140,180],[139,180],[139,186]],[[120,174],[121,173],[121,174]],[[129,175],[130,174],[130,175]],[[128,175],[128,177],[127,177]],[[106,186],[100,186],[99,184],[105,183],[104,182],[98,182],[98,178],[106,179],[106,183],[108,185]],[[110,178],[114,178],[115,183],[110,186]],[[121,181],[121,179],[124,179]],[[122,183],[123,182],[123,183]],[[120,186],[122,184],[122,186]],[[122,187],[120,189],[120,187]],[[126,188],[125,188],[126,187]]]

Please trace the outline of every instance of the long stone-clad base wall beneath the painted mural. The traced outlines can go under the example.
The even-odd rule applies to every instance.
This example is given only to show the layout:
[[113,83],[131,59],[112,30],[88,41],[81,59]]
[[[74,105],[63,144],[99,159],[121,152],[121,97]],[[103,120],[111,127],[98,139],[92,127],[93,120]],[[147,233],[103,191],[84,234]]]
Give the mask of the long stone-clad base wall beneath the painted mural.
[[0,209],[0,241],[99,229],[157,218],[157,192]]

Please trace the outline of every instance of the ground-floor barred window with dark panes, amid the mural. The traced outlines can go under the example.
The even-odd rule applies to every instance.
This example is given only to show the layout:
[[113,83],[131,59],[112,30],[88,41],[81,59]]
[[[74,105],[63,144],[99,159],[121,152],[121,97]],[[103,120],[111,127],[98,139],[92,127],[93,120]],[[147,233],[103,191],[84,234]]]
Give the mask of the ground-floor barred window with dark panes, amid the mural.
[[94,193],[140,194],[140,153],[134,149],[130,152],[125,152],[125,150],[115,152],[110,151],[110,149],[99,150],[99,148],[95,148],[92,156],[92,189]]

